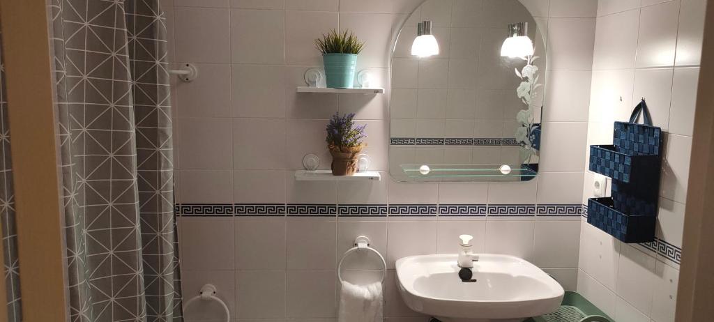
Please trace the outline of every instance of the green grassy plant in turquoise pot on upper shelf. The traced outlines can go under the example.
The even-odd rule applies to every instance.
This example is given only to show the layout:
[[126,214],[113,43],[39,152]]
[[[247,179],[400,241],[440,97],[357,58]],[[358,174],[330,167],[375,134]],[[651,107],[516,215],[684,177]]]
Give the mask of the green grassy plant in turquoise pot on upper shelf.
[[351,31],[346,30],[338,34],[332,29],[328,34],[323,34],[322,39],[315,39],[315,45],[322,53],[327,87],[351,89],[357,55],[362,51],[364,42],[359,41]]

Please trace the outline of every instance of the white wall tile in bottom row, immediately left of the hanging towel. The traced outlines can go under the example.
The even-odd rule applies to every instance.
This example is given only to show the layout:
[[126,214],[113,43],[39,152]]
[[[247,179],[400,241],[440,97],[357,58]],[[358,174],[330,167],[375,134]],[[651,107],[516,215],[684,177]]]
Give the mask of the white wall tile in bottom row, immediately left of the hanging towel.
[[288,271],[288,318],[331,318],[335,316],[335,271]]

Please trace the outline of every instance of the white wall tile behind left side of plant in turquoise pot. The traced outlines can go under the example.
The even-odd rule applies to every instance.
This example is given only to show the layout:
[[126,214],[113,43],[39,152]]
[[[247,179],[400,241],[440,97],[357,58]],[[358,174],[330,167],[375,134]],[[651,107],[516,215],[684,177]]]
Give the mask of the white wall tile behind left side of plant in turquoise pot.
[[338,28],[338,15],[321,11],[286,11],[285,53],[291,65],[321,66],[315,39]]

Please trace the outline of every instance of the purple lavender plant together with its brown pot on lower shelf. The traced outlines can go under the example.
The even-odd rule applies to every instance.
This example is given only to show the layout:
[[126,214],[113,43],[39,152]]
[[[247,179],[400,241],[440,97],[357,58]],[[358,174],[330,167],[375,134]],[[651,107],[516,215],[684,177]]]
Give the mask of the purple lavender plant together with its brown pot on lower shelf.
[[327,124],[327,147],[332,154],[333,176],[351,176],[357,171],[357,154],[367,144],[362,140],[366,138],[364,129],[366,125],[356,125],[352,120],[355,114],[340,116],[335,113]]

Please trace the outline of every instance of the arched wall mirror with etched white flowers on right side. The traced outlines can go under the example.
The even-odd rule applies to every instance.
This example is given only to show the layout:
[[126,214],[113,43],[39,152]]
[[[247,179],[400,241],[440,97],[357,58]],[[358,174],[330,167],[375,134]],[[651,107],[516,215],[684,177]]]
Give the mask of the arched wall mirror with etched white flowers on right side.
[[421,4],[392,54],[391,176],[534,178],[545,94],[543,34],[518,0]]

